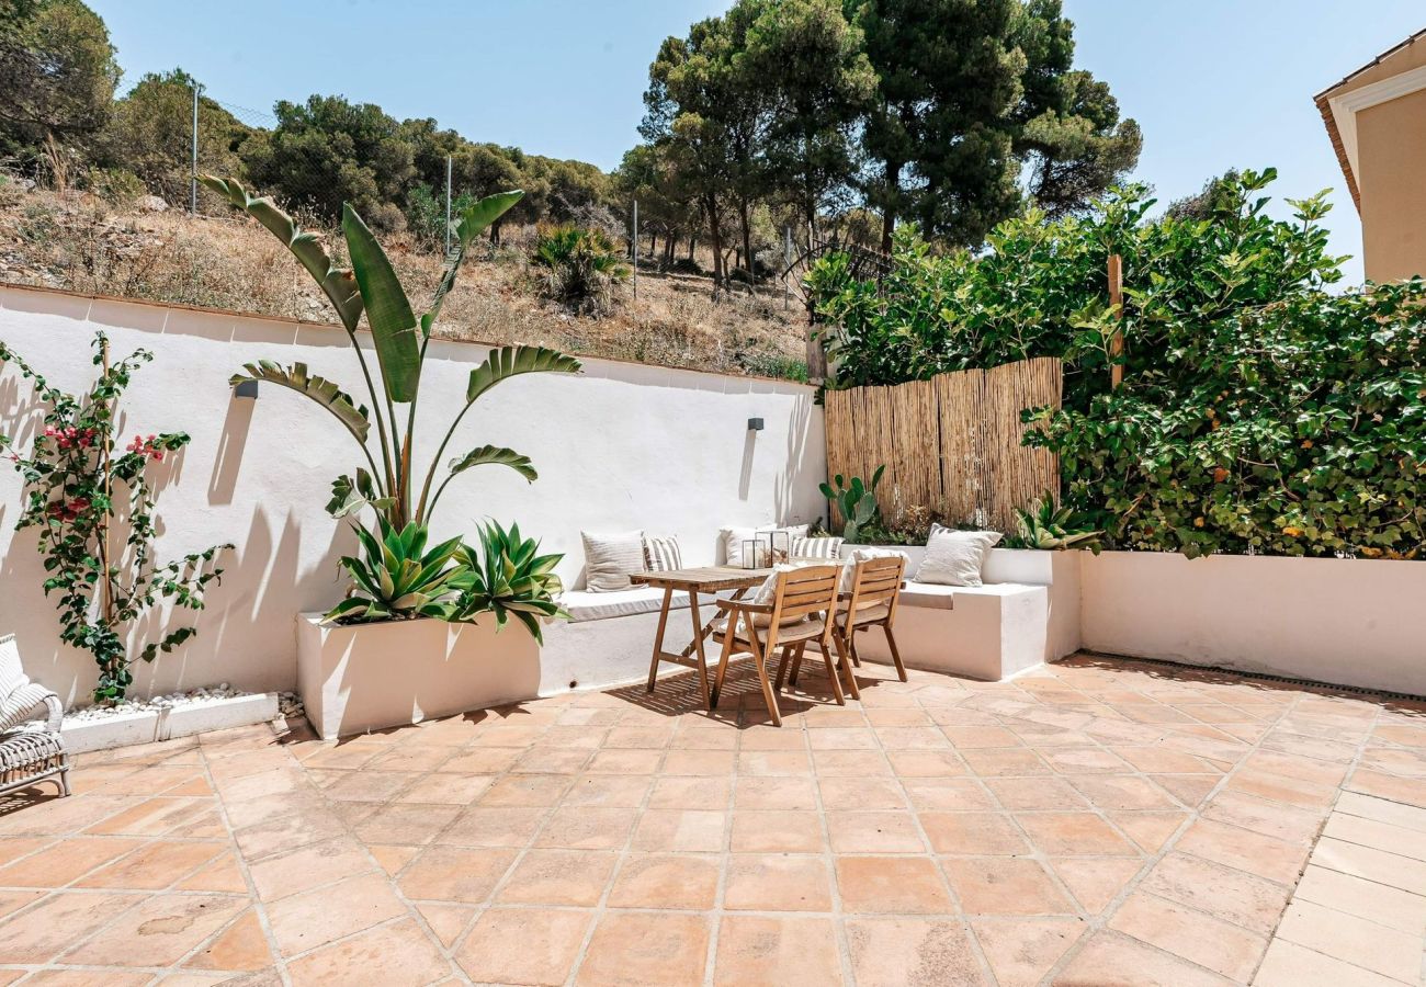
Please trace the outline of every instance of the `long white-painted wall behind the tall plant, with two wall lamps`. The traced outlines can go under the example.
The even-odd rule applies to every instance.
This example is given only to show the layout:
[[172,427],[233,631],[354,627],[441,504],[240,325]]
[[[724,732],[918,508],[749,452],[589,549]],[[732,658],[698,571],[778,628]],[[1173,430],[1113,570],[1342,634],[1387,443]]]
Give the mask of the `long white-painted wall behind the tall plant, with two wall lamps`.
[[[247,689],[295,685],[295,616],[335,603],[337,558],[352,549],[324,505],[334,476],[358,462],[351,438],[315,405],[275,387],[258,401],[230,395],[242,364],[305,361],[356,392],[359,375],[339,328],[0,287],[0,338],[70,391],[93,379],[90,339],[110,334],[116,355],[155,354],[123,404],[123,432],[187,431],[193,444],[154,474],[161,489],[160,558],[232,542],[222,585],[210,593],[198,638],[137,670],[135,693],[220,680]],[[436,342],[424,384],[416,462],[425,462],[463,399],[486,349]],[[0,431],[29,448],[39,421],[31,392],[0,372]],[[749,432],[747,419],[766,429]],[[824,511],[821,409],[809,387],[590,359],[580,377],[529,375],[501,384],[466,416],[453,456],[485,444],[529,455],[535,485],[483,466],[451,485],[435,536],[472,533],[493,516],[519,521],[565,552],[560,575],[579,583],[580,529],[677,535],[689,563],[714,562],[727,523],[811,521]],[[0,464],[0,633],[14,630],[26,670],[67,700],[93,686],[87,653],[61,646],[36,532],[16,533],[20,478]],[[392,655],[392,662],[399,662]]]

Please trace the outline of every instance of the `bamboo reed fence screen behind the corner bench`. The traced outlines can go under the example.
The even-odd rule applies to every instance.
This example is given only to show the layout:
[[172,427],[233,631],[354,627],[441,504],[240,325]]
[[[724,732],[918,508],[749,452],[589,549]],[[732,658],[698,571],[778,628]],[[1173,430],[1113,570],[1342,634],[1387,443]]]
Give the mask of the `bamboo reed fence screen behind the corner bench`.
[[945,523],[1015,529],[1015,508],[1060,495],[1058,456],[1020,444],[1024,408],[1060,406],[1052,357],[930,381],[826,392],[827,472],[870,479],[886,464],[878,501],[896,523],[907,508]]

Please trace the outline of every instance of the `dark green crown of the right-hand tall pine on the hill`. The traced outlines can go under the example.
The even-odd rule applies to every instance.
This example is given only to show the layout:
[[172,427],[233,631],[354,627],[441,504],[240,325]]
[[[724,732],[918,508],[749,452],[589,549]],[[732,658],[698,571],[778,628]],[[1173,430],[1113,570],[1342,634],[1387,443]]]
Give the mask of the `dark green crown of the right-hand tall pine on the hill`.
[[[863,190],[881,211],[978,247],[1025,200],[1084,208],[1138,161],[1138,126],[1108,86],[1072,68],[1060,0],[847,0],[877,91],[863,128]],[[1024,178],[1024,187],[1021,185]]]

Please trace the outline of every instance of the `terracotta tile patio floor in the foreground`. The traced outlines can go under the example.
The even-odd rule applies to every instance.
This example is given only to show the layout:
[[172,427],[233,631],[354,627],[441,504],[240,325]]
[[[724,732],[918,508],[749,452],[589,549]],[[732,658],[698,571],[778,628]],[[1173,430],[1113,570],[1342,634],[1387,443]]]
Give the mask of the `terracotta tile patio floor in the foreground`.
[[0,984],[1420,981],[1426,707],[860,677],[83,756],[0,804]]

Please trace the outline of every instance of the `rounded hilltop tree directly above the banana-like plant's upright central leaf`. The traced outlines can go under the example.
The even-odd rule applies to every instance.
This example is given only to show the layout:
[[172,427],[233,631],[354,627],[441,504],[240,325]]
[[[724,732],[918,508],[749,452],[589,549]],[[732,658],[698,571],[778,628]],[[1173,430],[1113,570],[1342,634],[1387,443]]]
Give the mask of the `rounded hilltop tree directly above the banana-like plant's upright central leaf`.
[[264,191],[331,223],[349,203],[372,225],[401,228],[405,190],[416,173],[401,124],[379,106],[341,96],[282,100],[275,114],[278,126],[270,140],[247,157]]

